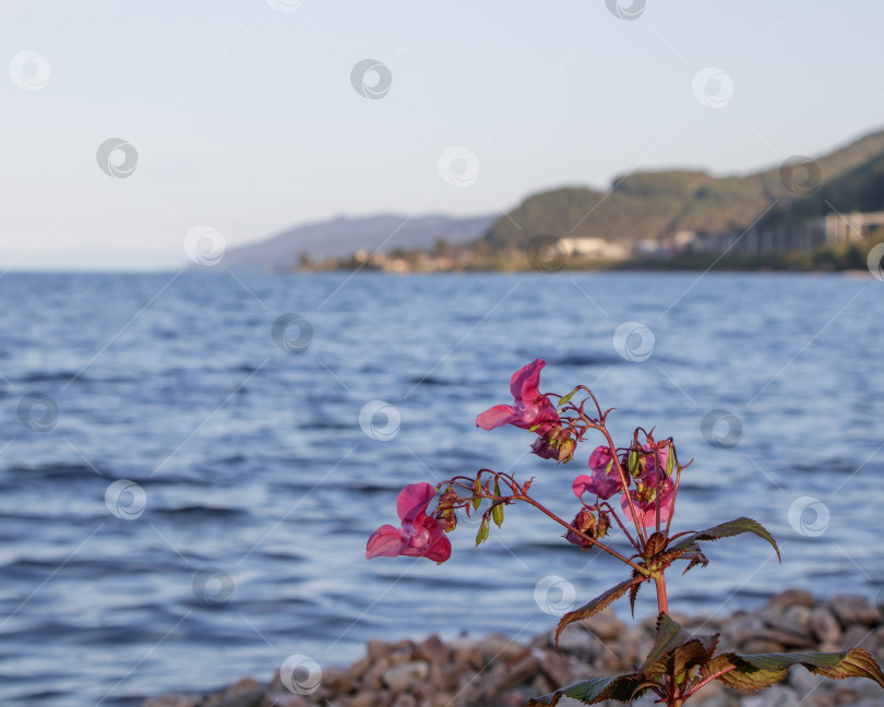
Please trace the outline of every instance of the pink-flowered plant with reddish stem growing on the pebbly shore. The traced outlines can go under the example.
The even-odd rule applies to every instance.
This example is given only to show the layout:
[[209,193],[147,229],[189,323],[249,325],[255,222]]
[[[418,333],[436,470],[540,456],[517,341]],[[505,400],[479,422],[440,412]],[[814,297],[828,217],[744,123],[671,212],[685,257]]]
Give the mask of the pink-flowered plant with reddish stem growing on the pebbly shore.
[[[656,638],[645,661],[630,673],[594,678],[536,697],[529,707],[556,705],[562,696],[587,705],[607,699],[630,703],[645,693],[653,693],[656,702],[669,707],[681,707],[712,681],[739,691],[762,690],[786,678],[796,664],[828,678],[868,678],[884,686],[881,668],[861,648],[844,652],[716,652],[718,635],[691,636],[682,630],[669,615],[666,571],[670,566],[684,563],[685,573],[705,566],[708,559],[703,543],[743,534],[766,540],[779,556],[776,540],[751,518],[737,518],[705,530],[671,532],[681,474],[690,462],[682,464],[672,439],[657,439],[653,429],[637,428],[624,446],[614,444],[606,424],[611,409],[602,410],[589,388],[578,385],[564,396],[540,393],[540,370],[545,364],[537,359],[516,371],[510,381],[513,404],[486,410],[476,424],[485,430],[504,424],[525,429],[537,435],[531,445],[534,454],[559,464],[573,460],[577,445],[590,432],[600,433],[601,444],[589,455],[592,474],[581,474],[572,482],[580,502],[574,518],[565,520],[537,501],[530,493],[533,479],[519,483],[513,475],[479,469],[475,477],[456,476],[435,487],[414,483],[403,489],[397,502],[401,527],[385,525],[375,530],[368,540],[367,558],[409,555],[442,563],[451,556],[445,534],[455,529],[458,514],[478,513],[487,502],[476,535],[478,546],[488,539],[492,523],[501,526],[505,506],[527,503],[558,523],[568,542],[583,550],[607,552],[631,571],[623,582],[564,614],[556,628],[557,645],[569,624],[598,613],[621,597],[629,595],[634,610],[638,590],[654,583]],[[580,400],[578,394],[583,394]],[[429,504],[439,491],[442,493],[435,508],[428,515]],[[610,503],[618,494],[619,503]],[[630,556],[604,542],[612,524],[632,546],[634,553]]]

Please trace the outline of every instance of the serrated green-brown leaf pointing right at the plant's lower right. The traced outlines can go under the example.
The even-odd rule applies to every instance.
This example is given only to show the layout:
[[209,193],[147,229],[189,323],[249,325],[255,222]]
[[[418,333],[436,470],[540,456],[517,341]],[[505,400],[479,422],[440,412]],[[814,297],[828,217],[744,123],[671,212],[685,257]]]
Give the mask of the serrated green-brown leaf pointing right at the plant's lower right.
[[708,663],[707,670],[709,674],[727,671],[716,680],[733,690],[753,692],[779,682],[792,666],[803,666],[812,673],[835,680],[868,678],[884,687],[881,667],[862,648],[834,654],[722,654]]

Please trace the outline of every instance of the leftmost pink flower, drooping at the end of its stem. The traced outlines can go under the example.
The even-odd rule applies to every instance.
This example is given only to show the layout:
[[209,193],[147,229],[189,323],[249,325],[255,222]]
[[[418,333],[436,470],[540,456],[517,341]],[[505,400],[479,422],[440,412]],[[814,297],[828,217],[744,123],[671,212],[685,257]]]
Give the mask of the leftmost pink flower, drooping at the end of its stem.
[[399,491],[396,512],[402,527],[384,525],[371,534],[366,558],[429,558],[445,562],[451,556],[451,542],[439,524],[427,516],[427,506],[435,495],[431,483],[410,483]]

